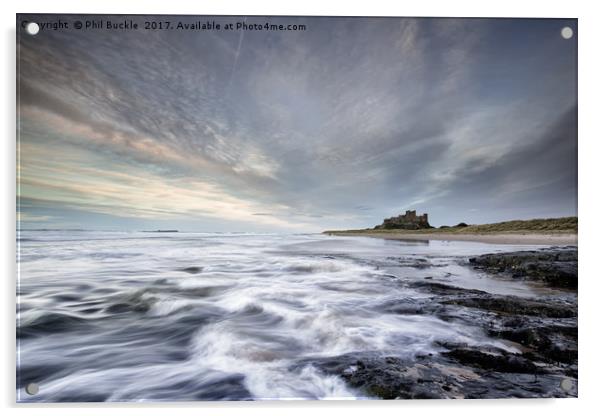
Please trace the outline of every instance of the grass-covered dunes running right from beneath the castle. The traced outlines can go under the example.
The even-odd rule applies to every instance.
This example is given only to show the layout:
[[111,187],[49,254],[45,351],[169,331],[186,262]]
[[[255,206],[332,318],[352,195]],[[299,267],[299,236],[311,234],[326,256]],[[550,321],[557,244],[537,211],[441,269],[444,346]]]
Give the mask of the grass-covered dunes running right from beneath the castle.
[[421,230],[366,228],[360,230],[329,230],[324,234],[577,234],[577,217],[537,218],[533,220],[513,220],[493,224],[451,226]]

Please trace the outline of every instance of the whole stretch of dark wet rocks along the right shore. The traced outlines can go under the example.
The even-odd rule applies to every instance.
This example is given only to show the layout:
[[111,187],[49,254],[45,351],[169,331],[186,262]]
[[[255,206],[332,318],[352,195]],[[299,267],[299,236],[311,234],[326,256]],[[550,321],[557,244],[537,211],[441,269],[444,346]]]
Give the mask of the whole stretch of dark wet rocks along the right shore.
[[468,259],[466,266],[536,280],[560,288],[560,294],[523,298],[432,281],[400,281],[432,296],[393,302],[387,311],[432,314],[451,325],[471,322],[519,352],[440,343],[438,354],[412,359],[364,352],[312,363],[327,374],[342,377],[366,397],[576,397],[577,248],[487,254]]

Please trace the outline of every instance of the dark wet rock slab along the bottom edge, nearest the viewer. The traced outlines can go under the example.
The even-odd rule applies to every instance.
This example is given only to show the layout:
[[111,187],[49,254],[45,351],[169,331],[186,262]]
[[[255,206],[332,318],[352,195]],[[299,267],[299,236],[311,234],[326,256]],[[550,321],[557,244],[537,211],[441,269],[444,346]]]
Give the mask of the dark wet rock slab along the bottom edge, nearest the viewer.
[[[477,349],[402,359],[346,354],[303,360],[326,374],[343,378],[367,397],[381,399],[451,399],[571,397],[560,382],[564,374],[540,369],[517,354]],[[576,384],[576,380],[570,378]]]

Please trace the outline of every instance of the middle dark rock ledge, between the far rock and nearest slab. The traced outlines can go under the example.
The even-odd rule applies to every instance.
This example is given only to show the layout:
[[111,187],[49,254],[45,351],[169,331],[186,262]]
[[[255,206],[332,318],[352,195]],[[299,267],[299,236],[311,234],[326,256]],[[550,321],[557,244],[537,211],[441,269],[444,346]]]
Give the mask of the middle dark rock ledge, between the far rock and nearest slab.
[[532,299],[493,295],[425,281],[408,285],[435,296],[389,302],[387,312],[432,314],[448,322],[469,322],[481,326],[492,337],[522,345],[528,351],[525,358],[529,360],[562,363],[567,376],[576,375],[577,304],[574,297]]

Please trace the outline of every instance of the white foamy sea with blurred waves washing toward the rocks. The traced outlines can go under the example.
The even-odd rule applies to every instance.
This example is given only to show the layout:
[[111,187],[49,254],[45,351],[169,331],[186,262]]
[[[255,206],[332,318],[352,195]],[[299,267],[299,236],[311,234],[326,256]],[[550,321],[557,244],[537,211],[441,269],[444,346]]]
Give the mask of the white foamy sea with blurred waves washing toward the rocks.
[[516,352],[476,323],[396,313],[432,296],[410,283],[550,294],[467,263],[522,245],[48,230],[17,244],[20,402],[366,399],[313,363],[444,342]]

